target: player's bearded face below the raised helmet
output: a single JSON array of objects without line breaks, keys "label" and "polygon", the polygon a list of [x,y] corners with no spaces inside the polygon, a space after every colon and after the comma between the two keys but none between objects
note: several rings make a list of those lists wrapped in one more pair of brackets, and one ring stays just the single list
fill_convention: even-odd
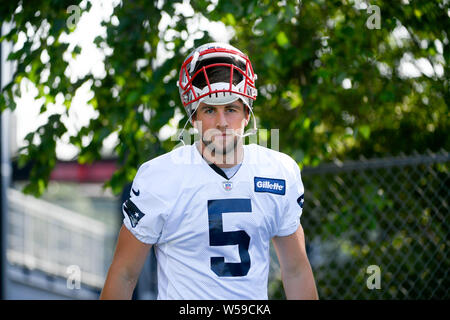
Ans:
[{"label": "player's bearded face below the raised helmet", "polygon": [[194,125],[205,147],[217,156],[235,150],[248,119],[249,114],[240,100],[226,105],[200,103],[194,115]]}]

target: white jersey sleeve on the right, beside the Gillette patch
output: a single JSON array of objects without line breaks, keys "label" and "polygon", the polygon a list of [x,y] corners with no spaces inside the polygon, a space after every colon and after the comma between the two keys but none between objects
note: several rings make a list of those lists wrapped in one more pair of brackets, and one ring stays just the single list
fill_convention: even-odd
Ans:
[{"label": "white jersey sleeve on the right, beside the Gillette patch", "polygon": [[297,230],[303,212],[304,188],[300,168],[294,160],[292,162],[292,169],[289,170],[286,181],[284,210],[281,212],[281,221],[276,234],[280,237],[288,236]]}]

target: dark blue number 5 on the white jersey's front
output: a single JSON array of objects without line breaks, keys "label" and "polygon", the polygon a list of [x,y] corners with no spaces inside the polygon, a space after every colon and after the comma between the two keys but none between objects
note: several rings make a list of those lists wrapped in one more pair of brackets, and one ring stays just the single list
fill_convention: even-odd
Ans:
[{"label": "dark blue number 5 on the white jersey's front", "polygon": [[209,245],[237,244],[241,262],[226,263],[224,257],[211,257],[211,270],[219,277],[242,277],[246,276],[250,269],[250,236],[244,230],[223,231],[222,214],[228,212],[252,212],[250,199],[208,200]]}]

